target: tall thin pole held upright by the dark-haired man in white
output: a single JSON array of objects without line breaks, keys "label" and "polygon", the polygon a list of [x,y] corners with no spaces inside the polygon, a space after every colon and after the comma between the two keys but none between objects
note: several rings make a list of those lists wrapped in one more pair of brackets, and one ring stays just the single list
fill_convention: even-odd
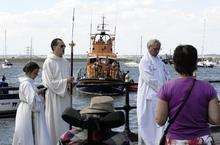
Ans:
[{"label": "tall thin pole held upright by the dark-haired man in white", "polygon": [[[74,30],[74,14],[75,14],[75,8],[73,8],[73,19],[72,19],[72,35],[71,35],[71,58],[70,58],[70,76],[73,77],[73,47],[75,46],[75,43],[73,42],[73,30]],[[73,84],[70,84],[70,107],[72,107],[72,95],[73,95]],[[71,129],[71,126],[70,126]]]}]

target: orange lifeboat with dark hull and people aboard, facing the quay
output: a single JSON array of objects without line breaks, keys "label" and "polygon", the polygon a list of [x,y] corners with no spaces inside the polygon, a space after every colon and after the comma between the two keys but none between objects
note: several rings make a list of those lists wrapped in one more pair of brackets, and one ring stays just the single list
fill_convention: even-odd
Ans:
[{"label": "orange lifeboat with dark hull and people aboard, facing the quay", "polygon": [[79,91],[96,95],[118,95],[123,93],[125,73],[121,71],[116,53],[115,34],[108,34],[105,29],[105,17],[97,28],[97,33],[90,34],[90,51],[87,63],[77,74]]}]

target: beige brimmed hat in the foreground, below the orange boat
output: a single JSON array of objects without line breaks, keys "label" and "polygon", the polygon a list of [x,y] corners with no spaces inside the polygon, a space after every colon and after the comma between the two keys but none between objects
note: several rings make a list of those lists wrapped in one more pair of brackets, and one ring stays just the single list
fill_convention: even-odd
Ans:
[{"label": "beige brimmed hat in the foreground, below the orange boat", "polygon": [[80,114],[96,114],[114,112],[113,98],[110,96],[92,97],[90,105],[80,111]]}]

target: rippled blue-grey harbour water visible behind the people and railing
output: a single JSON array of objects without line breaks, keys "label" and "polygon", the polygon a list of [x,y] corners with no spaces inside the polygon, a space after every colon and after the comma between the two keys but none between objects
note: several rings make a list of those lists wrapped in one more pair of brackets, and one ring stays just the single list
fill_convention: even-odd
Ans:
[{"label": "rippled blue-grey harbour water visible behind the people and railing", "polygon": [[[14,62],[13,67],[10,69],[2,69],[0,68],[0,78],[2,75],[6,76],[6,81],[11,86],[19,86],[18,77],[24,75],[22,72],[22,69],[24,67],[26,62]],[[38,61],[37,62],[41,67],[43,62]],[[77,76],[77,73],[79,69],[82,66],[85,66],[86,62],[74,62],[73,68],[74,68],[74,76]],[[134,62],[120,62],[121,69],[124,72],[129,71],[129,76],[131,79],[133,79],[135,82],[138,81],[139,71],[138,71],[138,65]],[[177,73],[175,72],[172,65],[167,64],[166,65],[171,78],[178,77]],[[220,80],[220,67],[214,67],[214,68],[198,68],[196,72],[196,76],[198,79],[202,80]],[[36,84],[41,84],[41,70],[39,73],[39,76],[36,78]],[[215,89],[218,92],[218,96],[220,96],[220,81],[216,83],[212,83],[212,85],[215,87]],[[73,93],[73,104],[72,107],[75,109],[82,109],[85,106],[89,105],[90,98],[92,95],[86,95],[82,94],[76,89],[74,89]],[[136,106],[136,97],[137,94],[132,92],[129,94],[130,98],[130,105]],[[114,98],[114,106],[115,107],[122,107],[125,104],[125,96],[113,96]],[[136,109],[133,109],[130,111],[129,115],[129,124],[130,129],[132,132],[137,132],[137,118],[136,118]],[[11,145],[13,133],[14,133],[14,126],[15,126],[15,118],[4,118],[0,119],[0,145]],[[124,127],[117,128],[115,130],[123,131]]]}]

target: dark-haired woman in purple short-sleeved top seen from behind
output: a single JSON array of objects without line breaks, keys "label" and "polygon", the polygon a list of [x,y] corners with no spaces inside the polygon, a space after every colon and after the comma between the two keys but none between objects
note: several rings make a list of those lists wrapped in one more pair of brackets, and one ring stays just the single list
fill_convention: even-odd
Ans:
[{"label": "dark-haired woman in purple short-sleeved top seen from behind", "polygon": [[[156,122],[162,126],[173,118],[192,87],[197,69],[197,50],[192,45],[179,45],[173,55],[179,78],[168,81],[158,92]],[[220,105],[210,83],[195,80],[191,94],[171,124],[166,145],[214,145],[209,123],[220,124]]]}]

